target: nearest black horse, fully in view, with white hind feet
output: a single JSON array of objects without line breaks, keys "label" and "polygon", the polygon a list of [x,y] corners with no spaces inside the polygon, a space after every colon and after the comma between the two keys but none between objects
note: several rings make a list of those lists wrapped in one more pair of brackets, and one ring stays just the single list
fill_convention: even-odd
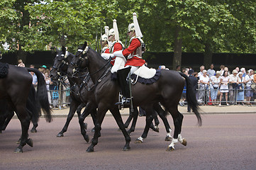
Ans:
[{"label": "nearest black horse, fully in view, with white hind feet", "polygon": [[[111,80],[109,64],[106,64],[106,60],[97,52],[91,50],[91,48],[87,46],[87,42],[85,42],[82,49],[77,52],[74,64],[79,67],[79,69],[87,67],[92,81],[96,84],[94,94],[98,104],[98,113],[96,115],[97,123],[95,125],[94,138],[87,152],[94,151],[94,146],[98,143],[101,123],[108,110],[113,114],[116,123],[125,136],[126,145],[123,147],[123,150],[130,149],[130,137],[125,130],[118,107],[115,105],[118,101],[119,86],[116,81]],[[146,128],[141,136],[142,138],[147,137],[156,103],[162,103],[165,109],[172,115],[174,120],[174,138],[172,139],[172,143],[167,147],[168,151],[174,149],[174,144],[178,141],[183,145],[187,145],[186,140],[181,136],[183,115],[179,113],[177,109],[179,99],[182,96],[185,79],[187,82],[188,104],[194,111],[199,125],[201,125],[201,115],[199,113],[198,103],[196,102],[196,96],[192,92],[191,82],[185,74],[171,70],[162,70],[160,79],[154,84],[137,83],[132,86],[133,107],[141,106],[147,113]]]}]

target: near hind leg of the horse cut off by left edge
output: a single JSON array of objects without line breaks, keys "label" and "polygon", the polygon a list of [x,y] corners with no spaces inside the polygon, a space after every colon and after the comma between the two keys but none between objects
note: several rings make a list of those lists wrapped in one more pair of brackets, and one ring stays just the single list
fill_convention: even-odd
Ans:
[{"label": "near hind leg of the horse cut off by left edge", "polygon": [[17,107],[16,112],[18,119],[21,122],[21,142],[20,145],[15,149],[15,153],[22,153],[23,147],[28,144],[30,147],[33,147],[33,140],[28,138],[28,128],[30,125],[30,116],[26,113],[26,109],[24,109],[22,106]]}]

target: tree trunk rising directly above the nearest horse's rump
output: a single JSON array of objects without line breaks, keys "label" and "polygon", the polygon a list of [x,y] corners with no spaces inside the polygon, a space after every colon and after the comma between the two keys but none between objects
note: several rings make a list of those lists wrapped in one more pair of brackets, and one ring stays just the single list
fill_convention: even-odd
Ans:
[{"label": "tree trunk rising directly above the nearest horse's rump", "polygon": [[176,69],[177,65],[182,65],[182,38],[179,36],[181,30],[182,28],[180,28],[179,26],[177,26],[175,30],[172,69]]}]

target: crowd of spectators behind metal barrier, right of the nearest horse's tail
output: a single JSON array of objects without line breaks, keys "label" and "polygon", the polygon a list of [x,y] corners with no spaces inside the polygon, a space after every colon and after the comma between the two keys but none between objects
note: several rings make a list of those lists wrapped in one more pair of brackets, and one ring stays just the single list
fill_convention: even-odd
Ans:
[{"label": "crowd of spectators behind metal barrier, right of the nearest horse's tail", "polygon": [[[184,68],[182,72],[184,74],[189,72],[189,77],[196,77],[198,80],[196,98],[200,104],[252,106],[255,103],[256,72],[252,69],[246,72],[245,68],[236,67],[230,72],[228,67],[221,65],[220,69],[216,71],[214,64],[211,64],[208,70],[204,66],[201,66],[199,70],[197,73],[191,68]],[[185,90],[186,88],[184,88]],[[181,106],[184,106],[184,100],[184,96],[182,96],[179,103]]]}]

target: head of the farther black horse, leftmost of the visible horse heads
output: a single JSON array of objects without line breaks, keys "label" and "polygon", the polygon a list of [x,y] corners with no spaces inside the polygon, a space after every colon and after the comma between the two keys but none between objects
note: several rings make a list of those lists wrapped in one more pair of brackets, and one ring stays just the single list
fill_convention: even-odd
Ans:
[{"label": "head of the farther black horse, leftmost of the visible horse heads", "polygon": [[69,52],[67,52],[66,48],[62,46],[62,50],[56,49],[56,57],[53,63],[52,70],[50,71],[50,77],[54,84],[57,84],[60,81],[60,78],[63,74],[67,74],[67,66],[69,65]]}]

